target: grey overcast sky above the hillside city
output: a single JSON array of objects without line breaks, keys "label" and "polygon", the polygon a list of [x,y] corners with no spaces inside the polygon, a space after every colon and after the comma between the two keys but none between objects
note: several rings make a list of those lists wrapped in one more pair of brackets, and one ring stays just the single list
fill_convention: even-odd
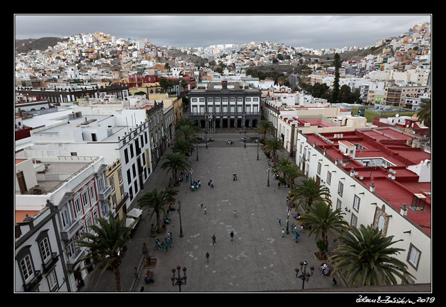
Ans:
[{"label": "grey overcast sky above the hillside city", "polygon": [[104,32],[156,46],[269,41],[294,47],[370,46],[431,15],[15,15],[15,39]]}]

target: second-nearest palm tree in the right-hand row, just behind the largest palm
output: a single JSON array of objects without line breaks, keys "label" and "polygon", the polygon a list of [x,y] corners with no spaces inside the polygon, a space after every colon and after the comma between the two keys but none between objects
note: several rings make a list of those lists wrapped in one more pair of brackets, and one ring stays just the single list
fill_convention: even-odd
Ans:
[{"label": "second-nearest palm tree in the right-hand row, just behind the largest palm", "polygon": [[[330,233],[336,237],[337,234],[342,234],[344,230],[348,229],[348,223],[344,221],[343,215],[344,213],[341,209],[332,211],[331,205],[317,201],[313,207],[310,207],[310,213],[303,214],[299,218],[299,224],[305,223],[306,225],[311,225],[312,231],[308,236],[315,234],[314,241],[321,236],[324,245],[328,246],[327,234]],[[321,254],[321,256],[324,255]]]}]

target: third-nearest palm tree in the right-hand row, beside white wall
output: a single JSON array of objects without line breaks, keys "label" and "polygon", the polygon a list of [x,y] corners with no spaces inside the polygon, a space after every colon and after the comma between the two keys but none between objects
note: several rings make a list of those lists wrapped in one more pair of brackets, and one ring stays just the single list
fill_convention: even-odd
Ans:
[{"label": "third-nearest palm tree in the right-hand row, beside white wall", "polygon": [[[307,212],[308,208],[312,207],[315,201],[323,201],[330,205],[332,203],[330,200],[330,189],[319,185],[316,179],[312,177],[304,179],[301,185],[298,185],[296,189],[290,191],[290,194],[292,195],[291,200],[298,200],[298,204],[303,205],[305,212]],[[296,211],[297,209],[298,206],[296,206]]]}]

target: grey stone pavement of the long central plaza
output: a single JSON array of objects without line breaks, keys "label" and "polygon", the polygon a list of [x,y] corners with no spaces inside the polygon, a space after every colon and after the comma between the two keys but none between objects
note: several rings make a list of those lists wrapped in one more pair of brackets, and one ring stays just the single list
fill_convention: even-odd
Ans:
[{"label": "grey stone pavement of the long central plaza", "polygon": [[[217,135],[213,135],[215,138]],[[243,147],[239,134],[234,134],[234,145],[224,145],[216,139],[199,145],[199,160],[195,153],[189,157],[193,168],[193,180],[201,180],[202,186],[191,192],[184,180],[177,189],[177,200],[181,206],[181,224],[184,236],[179,237],[179,214],[170,212],[171,222],[168,232],[172,232],[172,249],[168,252],[155,249],[158,238],[163,241],[167,234],[150,237],[150,214],[143,212],[143,217],[136,227],[132,241],[127,243],[127,252],[123,254],[121,264],[121,283],[124,292],[178,292],[178,286],[172,286],[172,268],[186,267],[187,284],[181,286],[181,292],[266,292],[300,290],[302,280],[296,278],[294,268],[300,268],[301,261],[308,261],[307,271],[314,266],[314,275],[305,282],[305,289],[332,288],[332,277],[321,276],[319,266],[322,261],[314,257],[317,251],[314,236],[307,236],[309,230],[303,230],[298,243],[294,234],[282,236],[286,230],[287,210],[285,198],[289,190],[278,189],[277,180],[269,178],[267,187],[267,158],[260,150],[257,158],[257,145]],[[249,136],[247,136],[249,137]],[[166,154],[170,154],[167,151]],[[144,192],[154,187],[163,189],[167,186],[169,175],[161,169],[163,159],[154,174],[145,184]],[[238,180],[233,180],[236,173]],[[270,173],[271,174],[271,173]],[[208,188],[212,179],[214,188]],[[303,178],[298,178],[296,184]],[[200,205],[207,208],[206,214]],[[237,217],[233,216],[237,210]],[[289,225],[296,225],[289,216]],[[281,219],[282,225],[278,224]],[[234,232],[233,241],[230,232]],[[211,237],[215,234],[216,243]],[[143,275],[142,251],[146,242],[149,254],[157,259],[153,268],[154,283],[145,283]],[[206,263],[206,252],[209,262]],[[138,278],[136,277],[138,272]],[[182,272],[181,272],[182,275]],[[115,284],[111,270],[107,270],[95,287],[93,278],[82,292],[114,292]],[[338,286],[339,284],[338,280]]]}]

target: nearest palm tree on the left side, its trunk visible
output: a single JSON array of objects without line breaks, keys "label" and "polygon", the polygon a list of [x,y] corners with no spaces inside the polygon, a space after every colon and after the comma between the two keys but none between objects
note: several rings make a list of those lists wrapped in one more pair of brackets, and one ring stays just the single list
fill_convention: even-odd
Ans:
[{"label": "nearest palm tree on the left side, its trunk visible", "polygon": [[84,266],[82,270],[91,268],[96,264],[98,266],[95,270],[104,266],[101,274],[107,268],[113,269],[116,292],[121,292],[121,272],[119,270],[121,250],[130,241],[130,232],[133,225],[130,225],[130,227],[125,225],[125,216],[123,219],[119,219],[118,216],[116,218],[109,216],[108,219],[98,218],[98,223],[99,225],[89,225],[91,232],[81,232],[80,239],[75,241],[77,248],[89,248],[90,250],[89,254],[80,257],[78,261],[75,261],[75,264],[88,260],[89,264]]}]

